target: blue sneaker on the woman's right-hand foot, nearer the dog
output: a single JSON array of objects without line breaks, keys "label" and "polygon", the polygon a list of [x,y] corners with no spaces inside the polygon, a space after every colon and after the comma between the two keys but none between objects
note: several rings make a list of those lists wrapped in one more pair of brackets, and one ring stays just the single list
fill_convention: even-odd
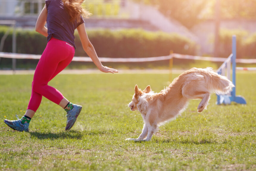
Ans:
[{"label": "blue sneaker on the woman's right-hand foot, nearer the dog", "polygon": [[67,112],[67,115],[66,115],[67,116],[67,126],[65,128],[66,131],[70,130],[70,128],[73,127],[81,110],[82,110],[82,106],[73,104],[73,109]]}]

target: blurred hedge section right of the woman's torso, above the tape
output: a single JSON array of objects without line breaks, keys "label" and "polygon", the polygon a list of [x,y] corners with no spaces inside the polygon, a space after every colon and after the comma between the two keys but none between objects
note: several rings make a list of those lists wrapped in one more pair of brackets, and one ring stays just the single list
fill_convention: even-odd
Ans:
[{"label": "blurred hedge section right of the woman's torso, above the tape", "polygon": [[[98,56],[111,58],[143,58],[175,53],[195,54],[196,45],[177,34],[147,32],[138,29],[119,31],[89,30],[88,37]],[[84,54],[76,34],[76,55]]]}]

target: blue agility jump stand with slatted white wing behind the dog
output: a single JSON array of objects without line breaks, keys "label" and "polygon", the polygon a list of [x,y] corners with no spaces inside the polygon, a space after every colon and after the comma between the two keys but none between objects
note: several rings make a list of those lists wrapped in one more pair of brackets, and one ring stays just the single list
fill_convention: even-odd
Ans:
[{"label": "blue agility jump stand with slatted white wing behind the dog", "polygon": [[[232,83],[236,86],[236,36],[232,36],[232,54],[227,58],[227,60],[219,67],[217,73],[223,75],[225,69],[227,70],[227,77],[230,79],[230,63],[232,63]],[[217,95],[217,102],[216,104],[231,104],[231,101],[234,101],[239,104],[246,104],[246,100],[241,95],[235,94],[236,87],[233,87],[230,95]]]}]

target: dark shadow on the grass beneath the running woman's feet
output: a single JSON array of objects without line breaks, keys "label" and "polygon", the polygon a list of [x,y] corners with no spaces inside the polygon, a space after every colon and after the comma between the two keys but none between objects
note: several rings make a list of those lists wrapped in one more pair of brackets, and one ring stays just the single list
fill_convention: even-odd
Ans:
[{"label": "dark shadow on the grass beneath the running woman's feet", "polygon": [[41,133],[41,132],[29,132],[31,136],[37,137],[39,139],[81,139],[82,138],[82,132],[71,130],[71,131],[63,131],[59,133]]}]

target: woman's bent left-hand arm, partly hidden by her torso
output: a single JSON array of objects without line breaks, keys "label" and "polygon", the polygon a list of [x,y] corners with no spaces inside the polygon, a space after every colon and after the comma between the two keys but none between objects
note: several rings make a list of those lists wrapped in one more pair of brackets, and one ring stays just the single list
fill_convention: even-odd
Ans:
[{"label": "woman's bent left-hand arm, partly hidden by her torso", "polygon": [[48,36],[47,28],[45,27],[46,19],[47,19],[47,8],[46,8],[46,5],[44,5],[43,10],[41,11],[36,21],[35,31],[42,34],[45,37]]}]

